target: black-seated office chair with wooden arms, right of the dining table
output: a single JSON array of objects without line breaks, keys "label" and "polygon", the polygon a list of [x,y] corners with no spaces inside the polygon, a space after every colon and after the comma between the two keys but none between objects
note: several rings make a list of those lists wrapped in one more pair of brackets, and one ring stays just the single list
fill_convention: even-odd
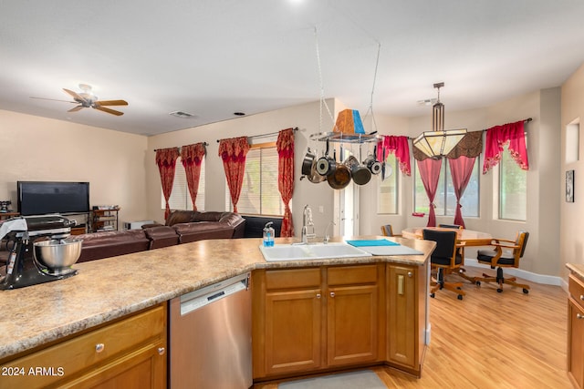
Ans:
[{"label": "black-seated office chair with wooden arms, right of the dining table", "polygon": [[[524,293],[529,292],[529,285],[525,283],[517,283],[516,277],[505,278],[503,275],[503,268],[518,268],[519,260],[526,252],[527,238],[529,232],[518,231],[515,241],[507,241],[505,239],[494,239],[491,246],[494,250],[479,250],[476,259],[479,262],[491,266],[491,269],[496,268],[496,276],[490,276],[483,273],[483,277],[474,277],[476,285],[480,286],[481,282],[497,282],[499,287],[496,292],[503,292],[503,284],[507,283],[512,286],[523,288]],[[503,252],[503,250],[510,250],[510,252]]]}]

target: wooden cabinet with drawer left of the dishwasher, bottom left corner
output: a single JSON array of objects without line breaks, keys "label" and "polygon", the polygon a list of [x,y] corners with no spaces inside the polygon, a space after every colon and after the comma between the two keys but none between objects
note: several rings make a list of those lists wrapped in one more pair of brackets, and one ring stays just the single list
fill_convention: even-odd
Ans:
[{"label": "wooden cabinet with drawer left of the dishwasher, bottom left corner", "polygon": [[164,303],[3,362],[0,388],[164,388],[166,347]]}]

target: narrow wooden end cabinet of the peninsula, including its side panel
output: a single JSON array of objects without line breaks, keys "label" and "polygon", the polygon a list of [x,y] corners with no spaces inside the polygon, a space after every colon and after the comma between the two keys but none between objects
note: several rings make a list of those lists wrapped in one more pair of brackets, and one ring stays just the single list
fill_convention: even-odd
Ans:
[{"label": "narrow wooden end cabinet of the peninsula, including its side panel", "polygon": [[426,271],[425,266],[387,265],[387,361],[418,376],[425,343]]}]

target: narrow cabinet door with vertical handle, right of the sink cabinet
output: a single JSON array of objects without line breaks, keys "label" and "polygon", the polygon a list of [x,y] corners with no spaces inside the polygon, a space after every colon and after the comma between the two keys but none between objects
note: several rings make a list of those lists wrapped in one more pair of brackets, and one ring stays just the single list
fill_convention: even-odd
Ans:
[{"label": "narrow cabinet door with vertical handle, right of the sink cabinet", "polygon": [[416,269],[388,265],[388,361],[416,367]]}]

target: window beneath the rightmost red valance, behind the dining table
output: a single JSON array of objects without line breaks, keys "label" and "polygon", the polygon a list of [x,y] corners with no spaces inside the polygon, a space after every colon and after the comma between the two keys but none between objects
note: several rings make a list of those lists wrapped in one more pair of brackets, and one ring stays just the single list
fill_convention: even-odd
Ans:
[{"label": "window beneath the rightmost red valance, behind the dining table", "polygon": [[527,220],[527,171],[506,150],[499,162],[499,219]]}]

